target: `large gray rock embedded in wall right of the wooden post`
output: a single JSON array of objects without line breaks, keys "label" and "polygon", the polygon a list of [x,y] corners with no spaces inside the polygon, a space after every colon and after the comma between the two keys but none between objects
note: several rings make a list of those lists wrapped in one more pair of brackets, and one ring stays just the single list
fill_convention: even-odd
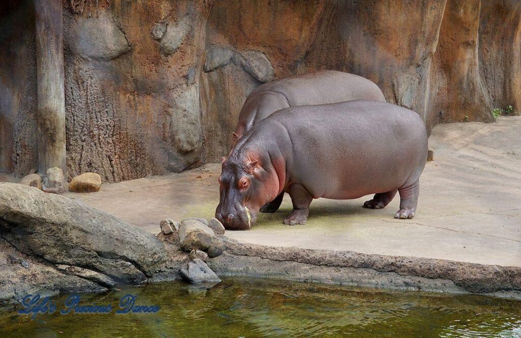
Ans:
[{"label": "large gray rock embedded in wall right of the wooden post", "polygon": [[75,16],[71,23],[64,30],[65,40],[83,56],[110,60],[130,51],[125,33],[110,11],[101,10],[92,17]]}]

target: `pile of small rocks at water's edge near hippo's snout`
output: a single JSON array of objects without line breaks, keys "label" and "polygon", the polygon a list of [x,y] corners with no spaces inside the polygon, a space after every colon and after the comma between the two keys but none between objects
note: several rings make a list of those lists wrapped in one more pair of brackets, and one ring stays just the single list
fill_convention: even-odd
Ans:
[{"label": "pile of small rocks at water's edge near hippo's snout", "polygon": [[221,281],[206,265],[208,258],[220,256],[226,250],[223,240],[225,227],[219,220],[189,218],[182,220],[181,223],[164,220],[159,223],[159,226],[166,240],[169,242],[178,240],[181,250],[190,252],[190,261],[180,270],[185,280],[190,283]]}]

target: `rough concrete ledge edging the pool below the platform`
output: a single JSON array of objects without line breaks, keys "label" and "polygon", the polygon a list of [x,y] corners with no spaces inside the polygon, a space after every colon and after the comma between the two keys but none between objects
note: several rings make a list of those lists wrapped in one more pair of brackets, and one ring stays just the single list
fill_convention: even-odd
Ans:
[{"label": "rough concrete ledge edging the pool below the platform", "polygon": [[521,299],[521,268],[353,251],[266,247],[229,240],[208,265],[221,276],[267,277]]}]

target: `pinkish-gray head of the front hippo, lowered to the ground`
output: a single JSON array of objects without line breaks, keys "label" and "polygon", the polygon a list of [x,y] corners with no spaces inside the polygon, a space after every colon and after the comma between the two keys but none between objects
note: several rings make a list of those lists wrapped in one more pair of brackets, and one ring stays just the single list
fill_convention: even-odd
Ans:
[{"label": "pinkish-gray head of the front hippo, lowered to the ground", "polygon": [[279,179],[269,156],[231,151],[222,158],[220,200],[215,217],[227,230],[248,230],[261,207],[279,194]]}]

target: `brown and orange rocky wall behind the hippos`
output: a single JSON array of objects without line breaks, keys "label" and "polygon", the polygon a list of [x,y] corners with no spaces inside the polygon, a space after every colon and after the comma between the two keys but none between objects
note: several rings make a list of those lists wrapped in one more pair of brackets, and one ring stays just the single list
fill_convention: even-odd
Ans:
[{"label": "brown and orange rocky wall behind the hippos", "polygon": [[[0,8],[0,171],[17,175],[36,161],[31,8]],[[515,0],[75,0],[63,19],[69,177],[215,162],[254,88],[316,69],[373,80],[429,130],[521,108]]]}]

